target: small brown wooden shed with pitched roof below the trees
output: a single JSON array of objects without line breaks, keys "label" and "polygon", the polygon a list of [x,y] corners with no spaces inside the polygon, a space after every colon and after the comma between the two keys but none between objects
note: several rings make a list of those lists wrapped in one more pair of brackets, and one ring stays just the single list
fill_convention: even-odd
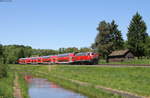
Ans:
[{"label": "small brown wooden shed with pitched roof below the trees", "polygon": [[113,51],[108,56],[108,62],[122,62],[122,61],[127,61],[133,58],[134,58],[134,55],[129,49],[118,50],[118,51]]}]

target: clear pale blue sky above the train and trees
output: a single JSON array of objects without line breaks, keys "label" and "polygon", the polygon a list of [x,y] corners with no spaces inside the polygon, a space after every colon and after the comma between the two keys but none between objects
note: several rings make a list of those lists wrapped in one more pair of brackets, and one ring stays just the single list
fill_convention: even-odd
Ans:
[{"label": "clear pale blue sky above the train and trees", "polygon": [[124,39],[138,11],[150,32],[149,0],[12,0],[0,2],[0,42],[40,49],[88,47],[100,21],[119,25]]}]

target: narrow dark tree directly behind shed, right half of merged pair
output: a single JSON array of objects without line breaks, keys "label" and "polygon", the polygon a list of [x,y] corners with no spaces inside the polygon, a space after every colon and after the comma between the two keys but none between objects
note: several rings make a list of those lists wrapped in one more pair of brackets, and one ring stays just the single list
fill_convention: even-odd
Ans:
[{"label": "narrow dark tree directly behind shed, right half of merged pair", "polygon": [[118,25],[115,24],[115,21],[113,20],[110,24],[110,33],[111,33],[111,40],[113,42],[113,50],[120,50],[124,47],[124,41],[122,38],[121,31],[118,30]]}]

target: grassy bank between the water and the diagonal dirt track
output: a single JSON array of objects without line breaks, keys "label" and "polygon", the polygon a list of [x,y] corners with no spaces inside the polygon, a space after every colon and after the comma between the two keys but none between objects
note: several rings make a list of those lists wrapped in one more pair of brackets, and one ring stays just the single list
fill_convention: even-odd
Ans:
[{"label": "grassy bank between the water and the diagonal dirt track", "polygon": [[[33,75],[35,77],[46,78],[50,81],[53,81],[59,84],[63,88],[82,93],[88,96],[89,98],[121,98],[121,96],[119,95],[112,94],[106,91],[102,91],[100,89],[93,88],[92,86],[81,86],[79,84],[72,83],[67,80],[53,77],[51,72],[49,72],[48,67],[49,66],[11,65],[11,68],[20,70],[24,75],[26,74],[26,75]],[[48,73],[48,75],[41,74],[41,72]]]}]

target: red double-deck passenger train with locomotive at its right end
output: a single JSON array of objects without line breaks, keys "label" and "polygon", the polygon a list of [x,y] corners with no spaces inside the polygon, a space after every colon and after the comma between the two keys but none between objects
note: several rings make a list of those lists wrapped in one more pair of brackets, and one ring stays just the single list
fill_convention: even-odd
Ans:
[{"label": "red double-deck passenger train with locomotive at its right end", "polygon": [[20,58],[19,64],[98,64],[100,54],[95,52],[64,53],[58,55]]}]

